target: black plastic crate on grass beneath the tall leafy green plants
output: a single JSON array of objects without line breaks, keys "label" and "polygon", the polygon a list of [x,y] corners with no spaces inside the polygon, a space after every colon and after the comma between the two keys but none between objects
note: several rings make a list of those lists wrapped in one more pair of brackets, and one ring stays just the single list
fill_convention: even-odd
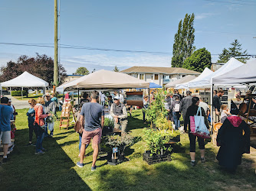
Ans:
[{"label": "black plastic crate on grass beneath the tall leafy green plants", "polygon": [[143,160],[146,161],[148,164],[160,163],[165,161],[171,161],[172,156],[171,154],[150,154],[149,151],[143,153]]}]

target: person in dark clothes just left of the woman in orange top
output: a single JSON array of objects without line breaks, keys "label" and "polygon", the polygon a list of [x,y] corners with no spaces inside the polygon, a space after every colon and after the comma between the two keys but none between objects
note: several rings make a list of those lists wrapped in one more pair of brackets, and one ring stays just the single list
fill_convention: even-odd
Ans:
[{"label": "person in dark clothes just left of the woman in orange top", "polygon": [[32,146],[32,137],[33,137],[33,131],[35,133],[34,129],[34,105],[36,105],[36,101],[34,99],[29,99],[28,104],[30,105],[30,108],[28,109],[27,116],[28,116],[28,128],[29,128],[29,140],[28,144],[26,146]]}]

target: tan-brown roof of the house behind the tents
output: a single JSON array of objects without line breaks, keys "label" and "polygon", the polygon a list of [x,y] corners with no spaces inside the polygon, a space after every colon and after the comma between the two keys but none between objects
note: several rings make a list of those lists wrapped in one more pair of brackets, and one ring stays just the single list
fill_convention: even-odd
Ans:
[{"label": "tan-brown roof of the house behind the tents", "polygon": [[198,72],[185,68],[176,67],[151,67],[151,66],[133,66],[121,73],[163,73],[163,74],[200,74]]}]

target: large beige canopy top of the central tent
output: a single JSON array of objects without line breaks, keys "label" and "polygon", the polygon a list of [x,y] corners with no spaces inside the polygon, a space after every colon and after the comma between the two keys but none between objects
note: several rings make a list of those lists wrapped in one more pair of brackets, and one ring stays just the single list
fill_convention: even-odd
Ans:
[{"label": "large beige canopy top of the central tent", "polygon": [[82,76],[71,83],[67,83],[64,87],[60,86],[57,88],[57,91],[61,92],[67,87],[84,89],[149,88],[149,83],[125,73],[99,70],[87,76]]}]

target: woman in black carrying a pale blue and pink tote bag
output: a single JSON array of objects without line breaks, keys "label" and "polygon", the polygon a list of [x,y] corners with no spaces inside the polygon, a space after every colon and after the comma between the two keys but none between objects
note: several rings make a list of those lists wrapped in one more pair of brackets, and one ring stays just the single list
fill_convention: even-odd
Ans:
[{"label": "woman in black carrying a pale blue and pink tote bag", "polygon": [[[190,116],[194,116],[197,113],[197,110],[199,108],[199,98],[193,97],[192,98],[192,105],[189,106],[185,113],[185,120],[184,120],[184,128],[187,128],[189,125],[189,141],[190,141],[190,157],[191,157],[191,165],[192,167],[195,167],[195,139],[197,137],[197,140],[199,141],[199,149],[201,154],[201,162],[205,163],[205,142],[203,138],[200,138],[198,136],[195,136],[194,134],[190,133]],[[210,128],[208,125],[207,118],[205,116],[204,108],[201,108],[202,116],[205,118],[205,125],[207,128]]]}]

